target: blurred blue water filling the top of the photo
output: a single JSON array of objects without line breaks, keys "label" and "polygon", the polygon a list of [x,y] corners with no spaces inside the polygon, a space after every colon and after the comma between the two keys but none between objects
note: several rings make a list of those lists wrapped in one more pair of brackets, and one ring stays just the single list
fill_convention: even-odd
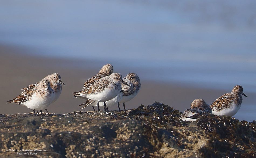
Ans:
[{"label": "blurred blue water filling the top of the photo", "polygon": [[[0,43],[256,92],[256,1],[1,1]],[[82,63],[81,67],[83,66]],[[77,65],[73,65],[77,66]]]}]

